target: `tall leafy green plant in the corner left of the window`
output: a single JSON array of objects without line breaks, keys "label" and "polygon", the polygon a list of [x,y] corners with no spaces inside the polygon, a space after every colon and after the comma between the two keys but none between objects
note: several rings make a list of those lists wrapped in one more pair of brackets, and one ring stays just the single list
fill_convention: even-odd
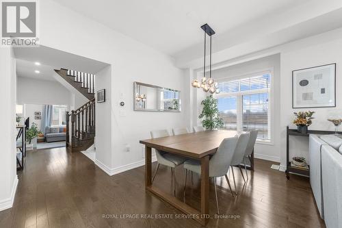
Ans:
[{"label": "tall leafy green plant in the corner left of the window", "polygon": [[203,110],[198,118],[205,118],[202,121],[202,126],[209,130],[223,127],[222,118],[218,116],[218,100],[213,98],[213,95],[210,95],[201,104]]}]

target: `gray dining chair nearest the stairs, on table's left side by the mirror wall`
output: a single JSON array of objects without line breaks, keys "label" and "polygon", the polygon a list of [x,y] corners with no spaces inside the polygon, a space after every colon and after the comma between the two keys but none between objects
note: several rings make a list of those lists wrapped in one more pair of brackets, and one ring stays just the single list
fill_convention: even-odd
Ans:
[{"label": "gray dining chair nearest the stairs, on table's left side by the mirror wall", "polygon": [[[170,136],[170,134],[168,133],[168,130],[156,130],[150,131],[150,136],[151,138],[161,138]],[[155,174],[153,175],[152,183],[155,180],[155,176],[157,175],[159,165],[162,164],[164,166],[168,166],[171,168],[171,181],[173,181],[174,183],[173,190],[174,195],[176,195],[176,176],[174,175],[174,168],[176,168],[176,166],[183,164],[186,159],[179,155],[167,153],[165,151],[159,151],[158,149],[155,149],[155,155],[157,156],[157,168],[155,169]]]}]

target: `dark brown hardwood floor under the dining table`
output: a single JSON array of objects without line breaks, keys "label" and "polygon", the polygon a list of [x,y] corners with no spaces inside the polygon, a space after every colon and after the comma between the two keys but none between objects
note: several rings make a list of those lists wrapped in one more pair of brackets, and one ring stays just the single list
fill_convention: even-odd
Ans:
[{"label": "dark brown hardwood floor under the dining table", "polygon": [[[235,198],[225,179],[217,179],[220,214],[239,218],[211,218],[207,227],[325,227],[308,179],[291,175],[287,181],[285,173],[269,168],[271,164],[255,160],[255,172],[248,171],[246,185],[235,169],[239,190]],[[14,206],[0,212],[0,227],[201,227],[190,218],[175,218],[185,215],[145,192],[144,166],[109,177],[82,153],[55,148],[28,152],[18,177]],[[176,168],[176,179],[177,197],[183,199],[183,168]],[[194,176],[193,185],[187,180],[185,201],[200,208],[198,177]],[[231,175],[230,180],[233,187]],[[154,184],[171,194],[170,169],[161,166]],[[211,182],[214,217],[213,190]],[[139,218],[122,218],[127,214]],[[142,214],[173,218],[142,219]]]}]

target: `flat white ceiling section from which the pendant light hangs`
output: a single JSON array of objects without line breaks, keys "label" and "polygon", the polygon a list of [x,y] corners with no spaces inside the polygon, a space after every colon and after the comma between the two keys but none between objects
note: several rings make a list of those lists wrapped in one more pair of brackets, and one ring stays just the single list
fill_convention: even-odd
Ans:
[{"label": "flat white ceiling section from which the pendant light hangs", "polygon": [[283,14],[313,0],[55,1],[174,56],[202,42],[200,25],[208,23],[218,34],[234,34],[242,25]]}]

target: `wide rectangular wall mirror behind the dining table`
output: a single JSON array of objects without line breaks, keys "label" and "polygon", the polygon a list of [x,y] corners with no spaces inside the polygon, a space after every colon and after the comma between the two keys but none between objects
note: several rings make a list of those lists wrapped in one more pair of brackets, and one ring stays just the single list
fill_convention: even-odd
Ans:
[{"label": "wide rectangular wall mirror behind the dining table", "polygon": [[134,110],[181,112],[181,91],[134,82]]}]

